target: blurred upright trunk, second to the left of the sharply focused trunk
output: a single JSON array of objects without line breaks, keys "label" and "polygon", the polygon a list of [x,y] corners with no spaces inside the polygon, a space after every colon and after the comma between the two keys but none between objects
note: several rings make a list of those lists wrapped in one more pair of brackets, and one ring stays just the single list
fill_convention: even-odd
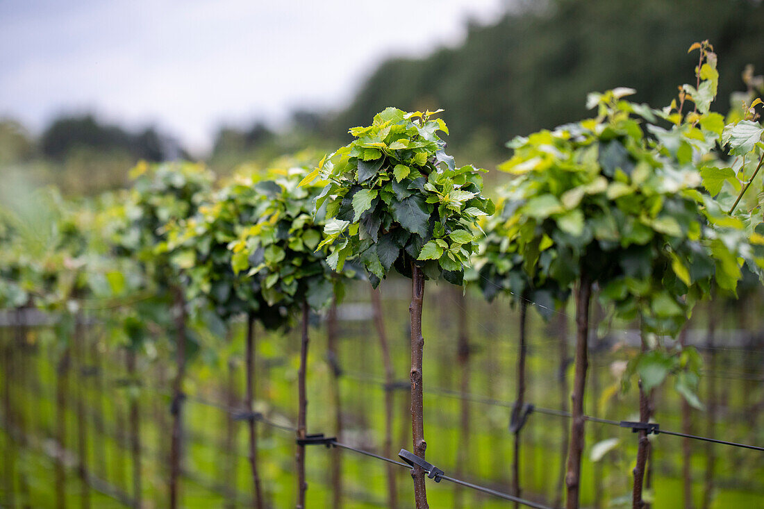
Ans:
[{"label": "blurred upright trunk, second to the left of the sharply focused trunk", "polygon": [[[339,379],[342,370],[339,366],[337,352],[337,300],[332,299],[332,306],[326,315],[326,357],[329,368],[332,371],[332,383],[330,387],[332,407],[334,408],[334,434],[342,442],[342,397],[339,391]],[[332,507],[342,508],[342,454],[341,449],[333,447],[329,452],[332,459],[330,477],[332,480]]]}]

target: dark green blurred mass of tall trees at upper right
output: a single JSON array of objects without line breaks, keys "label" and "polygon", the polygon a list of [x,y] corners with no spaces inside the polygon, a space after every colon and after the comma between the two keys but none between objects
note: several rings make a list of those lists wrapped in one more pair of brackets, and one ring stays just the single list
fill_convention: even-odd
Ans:
[{"label": "dark green blurred mass of tall trees at upper right", "polygon": [[[724,55],[720,66],[727,112],[747,64],[764,69],[764,5],[746,0],[551,0],[521,2],[497,24],[473,25],[463,45],[420,60],[388,60],[367,79],[337,118],[334,131],[361,125],[389,104],[440,107],[464,151],[572,122],[586,115],[593,89],[628,85],[638,102],[669,104],[685,69],[697,58],[677,51],[708,39]],[[480,90],[480,93],[475,93]],[[481,145],[483,146],[483,145]],[[484,157],[484,155],[481,155]]]}]

